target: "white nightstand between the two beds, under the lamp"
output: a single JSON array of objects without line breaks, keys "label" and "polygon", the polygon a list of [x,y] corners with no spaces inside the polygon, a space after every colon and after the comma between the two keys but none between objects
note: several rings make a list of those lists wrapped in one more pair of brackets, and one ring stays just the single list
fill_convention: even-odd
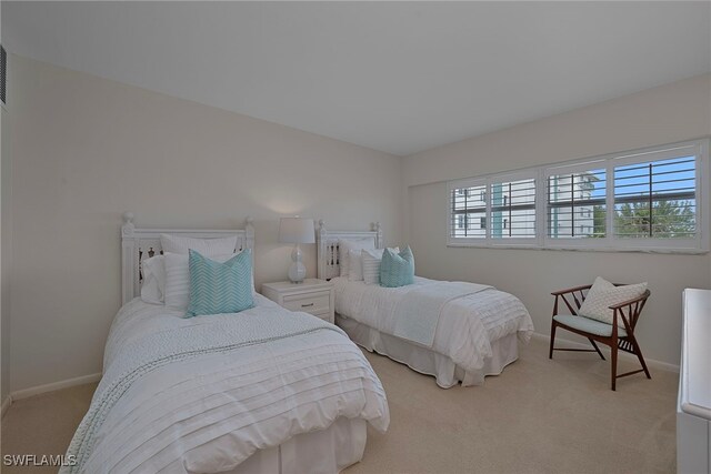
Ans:
[{"label": "white nightstand between the two beds, under the lamp", "polygon": [[329,323],[334,322],[333,283],[306,279],[303,283],[276,282],[262,284],[262,294],[291,311],[311,313]]}]

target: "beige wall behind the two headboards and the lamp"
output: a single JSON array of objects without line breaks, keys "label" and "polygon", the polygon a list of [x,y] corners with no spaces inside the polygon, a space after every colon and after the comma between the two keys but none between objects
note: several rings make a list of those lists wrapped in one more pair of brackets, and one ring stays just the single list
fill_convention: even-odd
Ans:
[{"label": "beige wall behind the two headboards and the lamp", "polygon": [[[256,223],[256,282],[284,280],[282,215],[383,224],[400,241],[401,159],[12,57],[12,391],[101,371],[120,304],[121,214],[138,226]],[[303,245],[316,275],[316,245]]]}]

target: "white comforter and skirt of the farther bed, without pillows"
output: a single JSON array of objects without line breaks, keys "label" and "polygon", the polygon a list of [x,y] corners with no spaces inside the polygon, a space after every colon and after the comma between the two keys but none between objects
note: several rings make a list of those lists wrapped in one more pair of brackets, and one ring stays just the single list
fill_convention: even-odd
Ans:
[{"label": "white comforter and skirt of the farther bed, without pillows", "polygon": [[523,303],[492,286],[419,276],[400,288],[331,281],[337,323],[351,340],[434,375],[442,387],[501,373],[518,359],[517,336],[528,342],[533,332]]}]

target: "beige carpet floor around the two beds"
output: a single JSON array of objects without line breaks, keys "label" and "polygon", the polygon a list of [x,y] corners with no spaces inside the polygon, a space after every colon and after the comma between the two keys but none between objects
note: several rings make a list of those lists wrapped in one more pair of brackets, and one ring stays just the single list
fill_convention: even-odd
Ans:
[{"label": "beige carpet floor around the two beds", "polygon": [[[442,390],[368,354],[391,423],[385,434],[369,428],[364,458],[347,473],[673,473],[678,375],[653,370],[651,381],[621,379],[612,392],[609,365],[595,357],[559,352],[549,361],[547,344],[534,340],[483,386]],[[2,420],[2,453],[63,453],[94,389],[13,403]]]}]

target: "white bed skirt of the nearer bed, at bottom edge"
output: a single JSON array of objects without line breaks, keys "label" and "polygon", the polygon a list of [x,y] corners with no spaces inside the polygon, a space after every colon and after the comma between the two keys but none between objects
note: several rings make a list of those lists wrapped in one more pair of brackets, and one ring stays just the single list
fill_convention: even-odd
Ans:
[{"label": "white bed skirt of the nearer bed, at bottom edge", "polygon": [[362,460],[365,425],[364,420],[340,417],[327,430],[258,451],[228,474],[338,473]]}]

